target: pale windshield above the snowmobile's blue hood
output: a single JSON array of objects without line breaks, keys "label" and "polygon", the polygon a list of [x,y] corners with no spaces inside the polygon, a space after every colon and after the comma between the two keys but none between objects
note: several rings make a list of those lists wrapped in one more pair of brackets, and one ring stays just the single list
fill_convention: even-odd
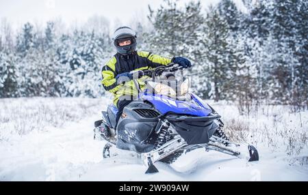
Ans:
[{"label": "pale windshield above the snowmobile's blue hood", "polygon": [[168,97],[183,97],[190,89],[190,79],[155,79],[146,80],[147,93],[165,95]]}]

